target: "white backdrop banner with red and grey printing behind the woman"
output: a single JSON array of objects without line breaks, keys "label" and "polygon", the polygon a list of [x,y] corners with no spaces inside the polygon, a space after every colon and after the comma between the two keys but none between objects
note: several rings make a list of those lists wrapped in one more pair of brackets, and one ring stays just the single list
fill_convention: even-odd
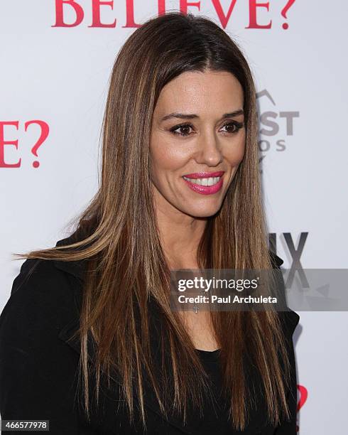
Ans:
[{"label": "white backdrop banner with red and grey printing behind the woman", "polygon": [[[0,308],[21,260],[54,246],[98,186],[109,75],[148,18],[190,11],[221,26],[256,80],[263,200],[283,267],[346,269],[347,1],[0,2]],[[298,431],[340,434],[346,311],[298,311]]]}]

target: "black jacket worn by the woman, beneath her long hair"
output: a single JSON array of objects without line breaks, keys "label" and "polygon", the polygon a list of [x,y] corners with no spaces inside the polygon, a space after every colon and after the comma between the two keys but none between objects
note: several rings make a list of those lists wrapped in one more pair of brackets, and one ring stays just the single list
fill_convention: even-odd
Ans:
[{"label": "black jacket worn by the woman, beneath her long hair", "polygon": [[[69,243],[71,236],[57,245]],[[274,267],[283,261],[271,254]],[[45,419],[53,435],[143,434],[141,426],[129,425],[119,402],[119,384],[113,378],[110,388],[102,388],[102,407],[87,424],[77,400],[79,340],[68,338],[79,326],[82,301],[83,262],[27,259],[13,281],[11,296],[0,316],[0,414],[1,419]],[[283,312],[288,338],[292,380],[287,392],[292,419],[278,429],[263,423],[264,409],[259,407],[243,434],[295,435],[297,388],[292,335],[299,316]],[[91,353],[91,358],[93,354]],[[261,393],[260,393],[261,394]],[[189,426],[170,417],[163,420],[151,392],[145,390],[148,434],[200,435],[199,419]],[[261,397],[261,395],[260,395]],[[256,403],[259,397],[256,397]],[[196,424],[197,421],[197,424]],[[36,432],[35,432],[36,433]],[[234,431],[231,434],[241,432]]]}]

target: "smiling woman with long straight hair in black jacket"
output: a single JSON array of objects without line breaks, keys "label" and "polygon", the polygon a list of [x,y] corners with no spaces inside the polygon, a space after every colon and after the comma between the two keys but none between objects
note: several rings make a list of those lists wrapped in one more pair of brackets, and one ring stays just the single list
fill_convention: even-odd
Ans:
[{"label": "smiling woman with long straight hair in black jacket", "polygon": [[2,419],[53,434],[295,434],[299,316],[169,304],[171,269],[283,263],[267,247],[255,94],[207,18],[173,12],[129,37],[99,191],[70,237],[21,255],[1,314]]}]

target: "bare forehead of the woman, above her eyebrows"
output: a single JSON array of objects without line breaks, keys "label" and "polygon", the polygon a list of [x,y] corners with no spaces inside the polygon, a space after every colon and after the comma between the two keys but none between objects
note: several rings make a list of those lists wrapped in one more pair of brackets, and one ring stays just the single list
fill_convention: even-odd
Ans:
[{"label": "bare forehead of the woman, above her eyebrows", "polygon": [[155,113],[190,112],[219,114],[243,107],[239,81],[225,71],[189,71],[178,75],[163,89]]}]

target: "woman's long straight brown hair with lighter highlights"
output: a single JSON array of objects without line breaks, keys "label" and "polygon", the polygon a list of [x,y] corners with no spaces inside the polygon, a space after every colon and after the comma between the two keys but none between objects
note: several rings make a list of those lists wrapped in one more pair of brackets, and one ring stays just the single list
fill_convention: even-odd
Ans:
[{"label": "woman's long straight brown hair with lighter highlights", "polygon": [[[158,235],[149,176],[151,122],[162,88],[185,71],[207,69],[232,73],[243,88],[246,148],[222,208],[207,219],[197,264],[202,269],[272,268],[261,203],[256,90],[246,58],[232,38],[208,18],[178,12],[151,18],[131,34],[116,57],[102,126],[101,182],[76,220],[75,242],[15,254],[67,262],[87,260],[79,331],[87,418],[90,333],[97,343],[97,397],[101,370],[108,375],[116,370],[131,419],[136,392],[146,424],[143,369],[163,414],[178,412],[184,421],[187,405],[200,407],[202,391],[209,387],[190,336],[178,313],[170,310],[170,269]],[[161,376],[154,369],[150,296],[161,313],[161,349],[164,353],[168,346],[170,375],[165,365]],[[211,313],[211,317],[234,427],[244,429],[248,417],[246,352],[261,375],[268,419],[278,424],[281,414],[289,415],[289,367],[277,313],[224,311]],[[286,363],[285,372],[281,360]]]}]

